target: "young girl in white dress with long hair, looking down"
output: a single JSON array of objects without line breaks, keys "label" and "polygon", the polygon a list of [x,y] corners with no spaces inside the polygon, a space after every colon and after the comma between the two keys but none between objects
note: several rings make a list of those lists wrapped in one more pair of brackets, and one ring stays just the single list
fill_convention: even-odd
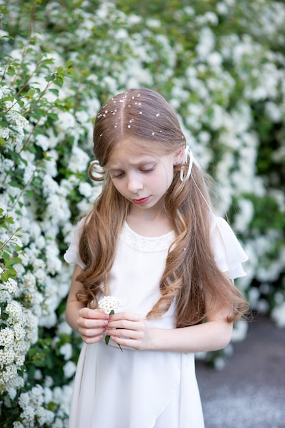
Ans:
[{"label": "young girl in white dress with long hair, looking down", "polygon": [[[157,92],[103,105],[94,156],[103,190],[65,255],[75,264],[66,320],[84,342],[69,426],[202,428],[194,353],[229,343],[247,310],[230,278],[247,256]],[[107,295],[120,299],[114,315],[98,306]]]}]

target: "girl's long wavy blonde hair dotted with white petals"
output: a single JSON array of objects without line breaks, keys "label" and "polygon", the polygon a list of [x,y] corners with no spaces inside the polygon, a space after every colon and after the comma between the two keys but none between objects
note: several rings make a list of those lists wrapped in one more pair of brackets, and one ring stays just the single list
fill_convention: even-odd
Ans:
[{"label": "girl's long wavy blonde hair dotted with white petals", "polygon": [[[169,155],[185,146],[185,136],[174,111],[162,96],[146,88],[114,96],[98,112],[93,151],[103,171],[113,148],[130,137],[141,142],[145,152],[157,156]],[[175,239],[161,278],[161,297],[147,318],[161,317],[176,302],[176,327],[201,323],[213,310],[223,306],[232,308],[232,316],[228,317],[232,322],[245,314],[247,302],[215,263],[208,194],[211,180],[193,164],[191,177],[182,182],[180,171],[185,169],[184,164],[174,166],[174,179],[165,194],[165,212]],[[100,177],[90,170],[90,178],[104,181],[103,190],[86,217],[79,243],[85,268],[77,277],[83,284],[77,299],[96,307],[98,291],[102,284],[107,287],[130,202],[114,187],[109,173]]]}]

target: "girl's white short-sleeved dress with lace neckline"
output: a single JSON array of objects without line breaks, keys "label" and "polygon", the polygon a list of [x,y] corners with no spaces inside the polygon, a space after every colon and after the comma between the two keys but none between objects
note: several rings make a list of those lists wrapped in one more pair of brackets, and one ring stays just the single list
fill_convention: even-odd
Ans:
[{"label": "girl's white short-sleeved dress with lace neckline", "polygon": [[[65,254],[83,267],[77,248],[80,226]],[[247,256],[230,226],[213,222],[215,258],[233,278],[245,275]],[[222,238],[221,238],[222,235]],[[142,237],[128,224],[120,233],[111,269],[111,295],[122,310],[146,315],[159,299],[159,280],[174,233]],[[229,267],[230,266],[230,267]],[[99,297],[100,298],[100,297]],[[173,328],[174,305],[149,327]],[[204,428],[193,353],[135,351],[110,340],[83,344],[74,380],[69,428]]]}]

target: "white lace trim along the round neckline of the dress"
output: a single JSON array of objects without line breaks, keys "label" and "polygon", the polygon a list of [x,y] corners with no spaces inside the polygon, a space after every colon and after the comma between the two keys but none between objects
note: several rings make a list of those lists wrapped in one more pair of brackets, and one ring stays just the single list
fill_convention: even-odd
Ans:
[{"label": "white lace trim along the round neckline of the dress", "polygon": [[168,250],[169,245],[174,241],[174,232],[169,232],[161,237],[143,237],[125,223],[120,232],[120,239],[128,247],[139,252],[161,252]]}]

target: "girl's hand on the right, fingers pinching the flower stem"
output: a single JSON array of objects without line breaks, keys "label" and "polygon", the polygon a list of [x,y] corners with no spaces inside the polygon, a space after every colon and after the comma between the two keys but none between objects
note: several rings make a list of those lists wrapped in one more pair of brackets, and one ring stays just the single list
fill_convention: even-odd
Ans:
[{"label": "girl's hand on the right, fingers pinching the flower stem", "polygon": [[105,334],[118,345],[144,351],[148,349],[150,332],[144,318],[132,312],[110,315]]}]

